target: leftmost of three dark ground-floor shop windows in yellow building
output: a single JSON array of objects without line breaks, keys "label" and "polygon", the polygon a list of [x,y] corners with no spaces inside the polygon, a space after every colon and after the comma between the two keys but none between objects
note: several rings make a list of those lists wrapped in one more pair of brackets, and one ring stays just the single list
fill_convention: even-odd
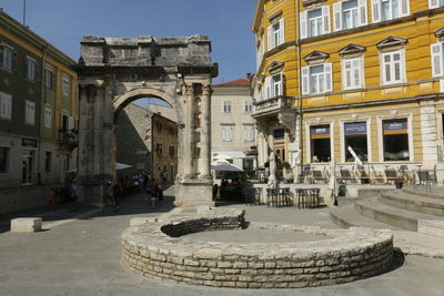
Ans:
[{"label": "leftmost of three dark ground-floor shop windows in yellow building", "polygon": [[312,162],[330,162],[331,143],[330,125],[315,125],[310,127]]}]

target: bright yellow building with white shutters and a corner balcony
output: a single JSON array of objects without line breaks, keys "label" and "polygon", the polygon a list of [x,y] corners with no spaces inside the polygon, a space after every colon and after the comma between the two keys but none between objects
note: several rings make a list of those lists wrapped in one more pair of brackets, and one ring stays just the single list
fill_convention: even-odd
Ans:
[{"label": "bright yellow building with white shutters and a corner balcony", "polygon": [[253,32],[260,164],[440,167],[444,1],[259,0]]}]

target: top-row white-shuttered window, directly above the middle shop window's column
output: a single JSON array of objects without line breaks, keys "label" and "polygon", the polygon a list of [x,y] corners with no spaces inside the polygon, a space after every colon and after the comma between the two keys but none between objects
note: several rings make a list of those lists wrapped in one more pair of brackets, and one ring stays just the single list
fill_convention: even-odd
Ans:
[{"label": "top-row white-shuttered window, directly above the middle shop window's column", "polygon": [[335,31],[367,24],[367,1],[350,0],[333,3],[333,24]]}]

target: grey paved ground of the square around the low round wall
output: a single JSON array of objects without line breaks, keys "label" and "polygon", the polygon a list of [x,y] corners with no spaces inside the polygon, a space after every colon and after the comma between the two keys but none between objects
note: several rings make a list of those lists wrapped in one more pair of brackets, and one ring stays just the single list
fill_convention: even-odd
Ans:
[{"label": "grey paved ground of the square around the low round wall", "polygon": [[[444,259],[420,256],[398,259],[401,266],[373,278],[287,290],[188,286],[130,272],[120,264],[120,234],[130,218],[157,216],[170,211],[171,203],[172,197],[167,196],[164,204],[153,210],[144,204],[143,195],[134,195],[123,200],[118,214],[105,208],[89,217],[70,216],[40,233],[0,233],[0,295],[443,295]],[[250,221],[336,227],[327,208],[236,207],[244,207]]]}]

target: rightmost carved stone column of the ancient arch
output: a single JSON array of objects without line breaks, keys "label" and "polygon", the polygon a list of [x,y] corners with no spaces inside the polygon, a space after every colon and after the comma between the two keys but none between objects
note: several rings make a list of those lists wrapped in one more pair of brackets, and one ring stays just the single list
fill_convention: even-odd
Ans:
[{"label": "rightmost carved stone column of the ancient arch", "polygon": [[201,155],[199,160],[199,173],[203,178],[210,176],[211,159],[211,85],[203,85],[201,102]]}]

